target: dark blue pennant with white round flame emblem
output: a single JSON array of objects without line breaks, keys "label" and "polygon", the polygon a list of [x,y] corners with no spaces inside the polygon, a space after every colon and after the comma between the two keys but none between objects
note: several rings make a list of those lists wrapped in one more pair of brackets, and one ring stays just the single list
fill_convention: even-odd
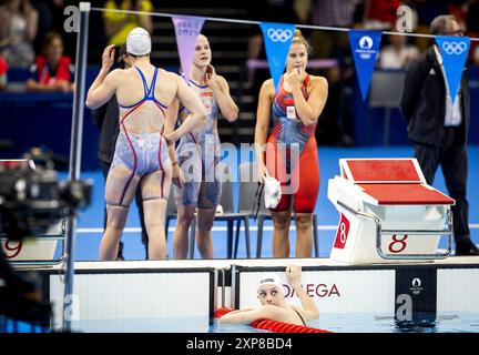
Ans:
[{"label": "dark blue pennant with white round flame emblem", "polygon": [[370,79],[375,69],[376,58],[379,52],[383,32],[377,31],[349,31],[349,44],[351,47],[356,73],[359,81],[363,100],[369,89]]}]

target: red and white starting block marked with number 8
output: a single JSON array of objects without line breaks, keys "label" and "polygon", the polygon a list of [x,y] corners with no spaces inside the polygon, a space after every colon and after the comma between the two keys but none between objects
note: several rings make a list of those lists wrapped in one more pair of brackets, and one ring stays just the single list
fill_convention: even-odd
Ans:
[{"label": "red and white starting block marked with number 8", "polygon": [[[328,181],[339,212],[330,258],[348,264],[445,258],[455,200],[426,183],[416,159],[340,159]],[[441,235],[448,235],[442,254]]]}]

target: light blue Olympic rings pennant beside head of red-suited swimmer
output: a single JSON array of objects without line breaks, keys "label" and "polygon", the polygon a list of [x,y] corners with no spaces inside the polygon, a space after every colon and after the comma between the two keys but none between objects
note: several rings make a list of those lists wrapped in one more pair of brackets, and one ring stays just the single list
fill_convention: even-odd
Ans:
[{"label": "light blue Olympic rings pennant beside head of red-suited swimmer", "polygon": [[273,78],[275,91],[277,91],[286,65],[289,45],[293,41],[295,26],[289,23],[261,22],[259,27],[263,31],[269,73]]}]

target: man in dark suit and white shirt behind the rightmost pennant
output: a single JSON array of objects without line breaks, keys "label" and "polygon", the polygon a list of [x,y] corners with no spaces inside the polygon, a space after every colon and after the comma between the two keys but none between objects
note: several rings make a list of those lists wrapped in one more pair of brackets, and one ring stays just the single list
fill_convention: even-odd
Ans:
[{"label": "man in dark suit and white shirt behind the rightmost pennant", "polygon": [[[430,24],[431,34],[461,37],[452,16],[439,16]],[[479,255],[470,240],[466,199],[468,175],[467,136],[470,122],[467,68],[460,88],[451,101],[445,79],[442,58],[436,44],[414,61],[407,70],[401,111],[407,121],[408,139],[428,184],[441,165],[452,206],[456,255]]]}]

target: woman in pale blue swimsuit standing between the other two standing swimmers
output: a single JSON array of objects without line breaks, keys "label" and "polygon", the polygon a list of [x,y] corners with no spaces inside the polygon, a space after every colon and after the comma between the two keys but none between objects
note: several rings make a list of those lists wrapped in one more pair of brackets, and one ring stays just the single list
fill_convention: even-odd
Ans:
[{"label": "woman in pale blue swimsuit standing between the other two standing swimmers", "polygon": [[[221,112],[228,122],[237,119],[238,108],[230,95],[226,80],[217,75],[211,64],[212,51],[207,38],[196,39],[188,85],[201,98],[206,111],[206,125],[184,135],[176,149],[179,164],[185,183],[174,186],[177,206],[177,222],[174,231],[173,250],[175,258],[185,258],[188,251],[188,230],[197,211],[196,244],[203,258],[213,257],[211,230],[220,202],[221,181],[216,176],[221,146],[217,133],[217,118]],[[180,110],[184,120],[187,111]],[[177,166],[180,165],[180,168]]]}]

